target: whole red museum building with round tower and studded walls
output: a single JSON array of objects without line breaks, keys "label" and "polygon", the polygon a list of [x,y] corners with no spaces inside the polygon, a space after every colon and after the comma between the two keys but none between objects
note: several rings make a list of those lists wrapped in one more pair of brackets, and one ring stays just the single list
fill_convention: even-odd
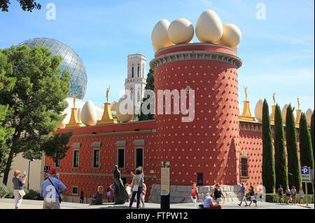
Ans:
[{"label": "whole red museum building with round tower and studded walls", "polygon": [[160,184],[161,161],[171,163],[171,185],[244,182],[246,187],[257,187],[262,184],[262,125],[239,118],[241,64],[235,50],[216,44],[179,44],[159,50],[150,62],[155,95],[158,90],[188,86],[195,90],[193,121],[182,122],[183,114],[171,109],[171,114],[155,114],[152,121],[59,129],[56,133],[73,132],[71,148],[59,163],[46,157],[45,165],[57,169],[69,201],[71,197],[77,201],[80,191],[91,198],[99,185],[107,189],[116,164],[122,180],[130,184],[130,172],[144,167],[146,198],[152,185]]}]

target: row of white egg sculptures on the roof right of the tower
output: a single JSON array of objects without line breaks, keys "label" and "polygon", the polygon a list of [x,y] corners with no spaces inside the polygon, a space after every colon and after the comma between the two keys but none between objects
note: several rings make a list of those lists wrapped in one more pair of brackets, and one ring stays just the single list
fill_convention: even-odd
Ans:
[{"label": "row of white egg sculptures on the roof right of the tower", "polygon": [[[262,106],[264,104],[264,100],[260,99],[258,100],[256,107],[255,107],[255,118],[258,121],[262,121]],[[282,121],[283,123],[286,123],[286,111],[288,109],[289,104],[284,104],[282,110],[281,110],[281,115],[282,115]],[[311,115],[313,114],[314,109],[309,108],[307,109],[307,112],[305,112],[305,117],[307,119],[307,125],[311,126]],[[293,112],[294,120],[296,121],[296,109]]]}]

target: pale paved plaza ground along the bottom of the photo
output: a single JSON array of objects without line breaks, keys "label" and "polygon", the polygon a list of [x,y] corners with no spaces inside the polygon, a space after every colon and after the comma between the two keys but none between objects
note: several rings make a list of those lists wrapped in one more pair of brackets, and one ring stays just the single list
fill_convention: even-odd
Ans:
[{"label": "pale paved plaza ground along the bottom of the photo", "polygon": [[[201,203],[197,203],[200,205]],[[62,202],[61,209],[126,209],[129,203],[123,205],[114,205],[113,203],[103,203],[103,205],[88,205],[86,203],[70,203]],[[244,205],[244,204],[243,204]],[[20,205],[20,209],[41,209],[43,207],[43,201],[33,201],[33,200],[23,200]],[[134,203],[133,208],[136,207]],[[0,199],[0,209],[13,209],[14,201],[13,199],[3,198]],[[159,203],[146,203],[145,208],[143,209],[159,209]],[[287,205],[279,203],[267,203],[259,202],[258,207],[255,208],[255,205],[251,207],[239,207],[237,202],[227,202],[222,205],[223,209],[302,209],[302,210],[314,210],[314,203],[309,204],[307,208],[306,205]],[[193,207],[193,203],[174,203],[171,204],[171,209],[197,209]]]}]

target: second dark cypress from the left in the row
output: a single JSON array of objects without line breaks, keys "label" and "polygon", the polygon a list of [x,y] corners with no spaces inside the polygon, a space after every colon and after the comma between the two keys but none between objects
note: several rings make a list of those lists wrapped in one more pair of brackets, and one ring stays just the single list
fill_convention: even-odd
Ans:
[{"label": "second dark cypress from the left in the row", "polygon": [[283,188],[288,187],[284,128],[281,109],[278,104],[276,104],[274,114],[274,169],[276,173],[276,188],[279,185]]}]

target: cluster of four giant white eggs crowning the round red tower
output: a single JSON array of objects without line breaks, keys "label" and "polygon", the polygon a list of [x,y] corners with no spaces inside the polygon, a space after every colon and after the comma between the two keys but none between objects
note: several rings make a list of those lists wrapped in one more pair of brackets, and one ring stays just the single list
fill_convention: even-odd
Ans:
[{"label": "cluster of four giant white eggs crowning the round red tower", "polygon": [[[201,43],[216,43],[237,50],[241,41],[241,31],[236,25],[223,25],[218,15],[211,10],[204,11],[197,20],[196,36]],[[194,36],[193,24],[184,18],[170,23],[160,20],[151,34],[154,51],[174,44],[190,43]]]}]

